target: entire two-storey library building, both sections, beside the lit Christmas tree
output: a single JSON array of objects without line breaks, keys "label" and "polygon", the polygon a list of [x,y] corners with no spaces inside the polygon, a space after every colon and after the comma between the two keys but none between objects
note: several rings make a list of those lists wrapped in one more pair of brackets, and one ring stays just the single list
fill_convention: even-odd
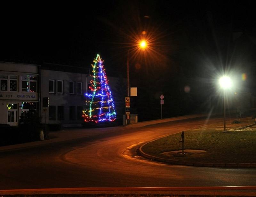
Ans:
[{"label": "entire two-storey library building, both sections, beside the lit Christmas tree", "polygon": [[[43,123],[80,126],[84,93],[92,80],[89,73],[88,68],[59,64],[0,62],[0,124],[16,126],[33,109]],[[117,78],[108,80],[114,88]],[[49,107],[43,107],[44,97],[49,98]]]}]

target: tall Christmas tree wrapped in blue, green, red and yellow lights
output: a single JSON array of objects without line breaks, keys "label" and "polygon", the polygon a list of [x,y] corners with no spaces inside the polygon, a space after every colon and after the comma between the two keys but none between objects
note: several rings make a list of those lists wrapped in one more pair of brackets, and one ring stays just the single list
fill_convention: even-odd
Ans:
[{"label": "tall Christmas tree wrapped in blue, green, red and yellow lights", "polygon": [[85,102],[88,108],[83,111],[84,122],[112,122],[116,120],[116,111],[111,91],[108,86],[107,75],[103,65],[104,60],[98,54],[92,64],[93,80],[91,80],[91,94]]}]

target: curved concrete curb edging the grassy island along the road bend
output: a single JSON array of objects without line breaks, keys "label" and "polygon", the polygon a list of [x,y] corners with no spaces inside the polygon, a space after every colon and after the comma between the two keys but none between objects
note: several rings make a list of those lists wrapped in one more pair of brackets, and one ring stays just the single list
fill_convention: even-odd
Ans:
[{"label": "curved concrete curb edging the grassy island along the road bend", "polygon": [[[153,140],[155,141],[155,140]],[[153,142],[152,141],[152,142]],[[148,142],[150,143],[150,142]],[[146,144],[148,144],[146,143]],[[146,144],[140,146],[139,153],[141,156],[156,161],[156,162],[164,162],[168,164],[174,164],[174,165],[185,165],[185,166],[195,166],[195,167],[211,167],[211,168],[256,168],[256,163],[193,163],[193,162],[185,162],[180,160],[171,160],[171,159],[165,159],[161,157],[156,157],[150,154],[145,153],[142,150],[142,147]]]}]

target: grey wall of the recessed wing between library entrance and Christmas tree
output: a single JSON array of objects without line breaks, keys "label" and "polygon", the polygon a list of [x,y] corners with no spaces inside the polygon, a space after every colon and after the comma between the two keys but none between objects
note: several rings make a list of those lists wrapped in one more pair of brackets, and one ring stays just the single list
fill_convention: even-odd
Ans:
[{"label": "grey wall of the recessed wing between library entrance and Christmas tree", "polygon": [[[53,70],[41,70],[41,100],[44,97],[49,98],[49,108],[44,112],[43,103],[41,102],[42,122],[46,118],[46,123],[61,123],[63,126],[77,126],[83,121],[79,113],[82,113],[81,107],[84,106],[84,93],[86,92],[86,79],[89,82],[90,77],[82,73],[70,73]],[[74,85],[74,92],[70,92],[70,82]],[[49,89],[49,83],[54,84],[54,88]],[[63,91],[60,91],[62,83]],[[81,92],[77,90],[82,84]],[[73,88],[71,88],[72,90]],[[58,92],[59,91],[59,92]],[[55,108],[55,113],[53,113]],[[58,110],[60,108],[60,110]],[[64,114],[62,113],[62,109]],[[70,109],[71,108],[71,109]],[[59,112],[58,112],[59,111]],[[46,115],[46,116],[45,116]]]}]

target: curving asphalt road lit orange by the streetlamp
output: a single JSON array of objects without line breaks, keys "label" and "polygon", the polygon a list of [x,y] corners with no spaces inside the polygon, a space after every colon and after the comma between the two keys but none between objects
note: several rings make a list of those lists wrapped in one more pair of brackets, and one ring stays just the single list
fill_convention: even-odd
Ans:
[{"label": "curving asphalt road lit orange by the streetlamp", "polygon": [[255,169],[176,166],[141,158],[135,152],[145,142],[204,124],[203,119],[184,120],[2,152],[0,190],[255,185]]}]

